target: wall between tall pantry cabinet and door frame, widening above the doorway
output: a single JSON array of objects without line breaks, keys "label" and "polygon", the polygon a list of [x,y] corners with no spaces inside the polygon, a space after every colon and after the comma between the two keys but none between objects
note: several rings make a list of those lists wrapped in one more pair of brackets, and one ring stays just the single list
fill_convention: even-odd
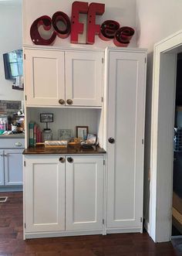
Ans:
[{"label": "wall between tall pantry cabinet and door frame, widening above the doorway", "polygon": [[148,49],[144,213],[147,220],[149,220],[150,182],[148,180],[148,172],[150,169],[153,45],[182,29],[182,2],[180,0],[137,0],[136,5],[137,46]]}]

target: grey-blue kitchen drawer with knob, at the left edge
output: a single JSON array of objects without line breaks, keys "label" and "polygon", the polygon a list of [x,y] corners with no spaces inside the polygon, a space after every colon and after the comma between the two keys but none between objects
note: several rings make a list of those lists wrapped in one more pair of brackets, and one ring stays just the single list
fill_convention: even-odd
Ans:
[{"label": "grey-blue kitchen drawer with knob, at the left edge", "polygon": [[25,138],[2,138],[0,148],[25,148]]}]

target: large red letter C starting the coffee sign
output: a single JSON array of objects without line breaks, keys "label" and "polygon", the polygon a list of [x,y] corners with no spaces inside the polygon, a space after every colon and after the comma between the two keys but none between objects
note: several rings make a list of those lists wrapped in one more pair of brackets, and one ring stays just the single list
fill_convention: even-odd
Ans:
[{"label": "large red letter C starting the coffee sign", "polygon": [[39,26],[43,26],[45,30],[50,30],[52,26],[52,20],[49,16],[41,16],[38,19],[35,19],[35,22],[32,23],[30,28],[30,36],[32,42],[37,45],[49,46],[56,39],[56,32],[52,33],[52,36],[49,39],[43,39],[39,33]]}]

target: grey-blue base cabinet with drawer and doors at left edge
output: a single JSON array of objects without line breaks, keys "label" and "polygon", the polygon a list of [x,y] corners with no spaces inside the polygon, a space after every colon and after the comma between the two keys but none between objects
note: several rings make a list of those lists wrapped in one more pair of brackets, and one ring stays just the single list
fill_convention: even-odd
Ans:
[{"label": "grey-blue base cabinet with drawer and doors at left edge", "polygon": [[[0,190],[22,186],[22,152],[24,138],[1,138],[0,149]],[[16,189],[15,189],[16,190]]]}]

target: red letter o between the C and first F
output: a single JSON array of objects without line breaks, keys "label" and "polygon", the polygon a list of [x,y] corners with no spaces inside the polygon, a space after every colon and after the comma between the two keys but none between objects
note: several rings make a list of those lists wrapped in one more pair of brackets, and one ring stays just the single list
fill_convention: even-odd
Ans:
[{"label": "red letter o between the C and first F", "polygon": [[[63,22],[66,29],[59,29],[57,26],[58,22]],[[69,16],[64,12],[55,12],[55,14],[52,16],[52,26],[60,38],[68,37],[71,32],[71,22],[69,20]]]}]

